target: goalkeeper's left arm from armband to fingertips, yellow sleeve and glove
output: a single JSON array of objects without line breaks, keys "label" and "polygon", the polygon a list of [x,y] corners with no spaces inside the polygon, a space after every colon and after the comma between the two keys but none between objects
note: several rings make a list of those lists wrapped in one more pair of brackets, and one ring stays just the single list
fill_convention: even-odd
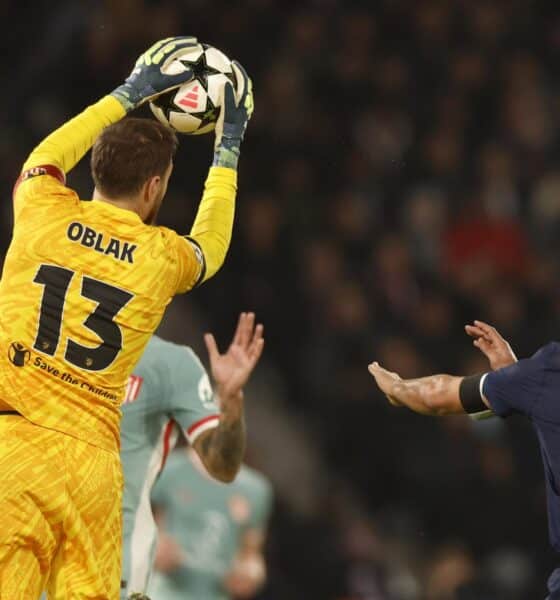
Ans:
[{"label": "goalkeeper's left arm from armband to fingertips, yellow sleeve and glove", "polygon": [[26,173],[37,173],[30,170],[43,167],[47,174],[63,181],[65,174],[92,147],[105,127],[144,102],[192,78],[189,70],[167,75],[163,69],[178,52],[194,44],[196,38],[193,37],[166,38],[154,44],[136,61],[132,73],[121,86],[62,125],[33,150],[23,166],[22,179],[26,178]]}]

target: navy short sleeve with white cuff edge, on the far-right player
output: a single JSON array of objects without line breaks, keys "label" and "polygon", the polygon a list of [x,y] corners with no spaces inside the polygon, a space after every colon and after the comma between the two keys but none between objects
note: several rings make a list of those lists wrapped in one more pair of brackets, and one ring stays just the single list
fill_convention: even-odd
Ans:
[{"label": "navy short sleeve with white cuff edge, on the far-right player", "polygon": [[556,344],[541,348],[531,358],[488,373],[481,382],[482,393],[501,417],[513,413],[533,416],[544,388],[551,358],[558,356]]}]

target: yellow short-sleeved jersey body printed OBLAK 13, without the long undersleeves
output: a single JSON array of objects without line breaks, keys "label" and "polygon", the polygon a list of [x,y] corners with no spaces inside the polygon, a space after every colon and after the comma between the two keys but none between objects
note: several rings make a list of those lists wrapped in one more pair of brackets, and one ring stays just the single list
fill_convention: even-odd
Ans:
[{"label": "yellow short-sleeved jersey body printed OBLAK 13, without the long undersleeves", "polygon": [[[38,425],[115,449],[128,376],[179,284],[190,289],[198,281],[199,258],[174,231],[145,225],[135,213],[106,202],[80,202],[74,191],[48,175],[24,181],[15,205],[14,235],[0,281],[0,398]],[[86,239],[86,228],[93,239]],[[118,246],[119,258],[105,253],[111,244]],[[120,259],[125,248],[134,248],[133,262]],[[56,328],[56,310],[42,307],[47,290],[37,280],[53,267],[71,276],[66,290],[55,286],[63,302],[56,347],[38,337],[42,316],[47,327]],[[122,337],[113,340],[113,352],[118,351],[101,370],[89,368],[103,343],[88,326],[98,302],[83,286],[92,280],[107,286],[103,296],[109,306],[118,294],[111,288],[131,295],[112,319],[105,319],[117,325]],[[68,359],[70,342],[91,349],[84,365]],[[23,354],[19,351],[22,366],[14,363],[19,348],[14,344],[25,348]]]}]

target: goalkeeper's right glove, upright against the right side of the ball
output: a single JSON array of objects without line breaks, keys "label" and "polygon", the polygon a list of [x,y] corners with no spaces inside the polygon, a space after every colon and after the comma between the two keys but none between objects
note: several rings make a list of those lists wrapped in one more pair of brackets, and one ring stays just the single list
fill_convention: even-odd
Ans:
[{"label": "goalkeeper's right glove, upright against the right side of the ball", "polygon": [[237,169],[240,146],[247,129],[247,123],[255,107],[253,101],[253,83],[245,69],[233,62],[237,78],[237,96],[231,83],[223,90],[220,116],[216,121],[216,142],[214,144],[214,166]]}]

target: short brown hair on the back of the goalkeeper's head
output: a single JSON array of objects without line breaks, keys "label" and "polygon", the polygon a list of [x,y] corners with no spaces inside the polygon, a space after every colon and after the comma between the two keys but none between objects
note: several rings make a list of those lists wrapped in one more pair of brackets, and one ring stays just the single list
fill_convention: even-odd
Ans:
[{"label": "short brown hair on the back of the goalkeeper's head", "polygon": [[177,146],[175,132],[158,121],[123,119],[104,129],[93,145],[93,181],[108,198],[135,194],[150,177],[164,175]]}]

